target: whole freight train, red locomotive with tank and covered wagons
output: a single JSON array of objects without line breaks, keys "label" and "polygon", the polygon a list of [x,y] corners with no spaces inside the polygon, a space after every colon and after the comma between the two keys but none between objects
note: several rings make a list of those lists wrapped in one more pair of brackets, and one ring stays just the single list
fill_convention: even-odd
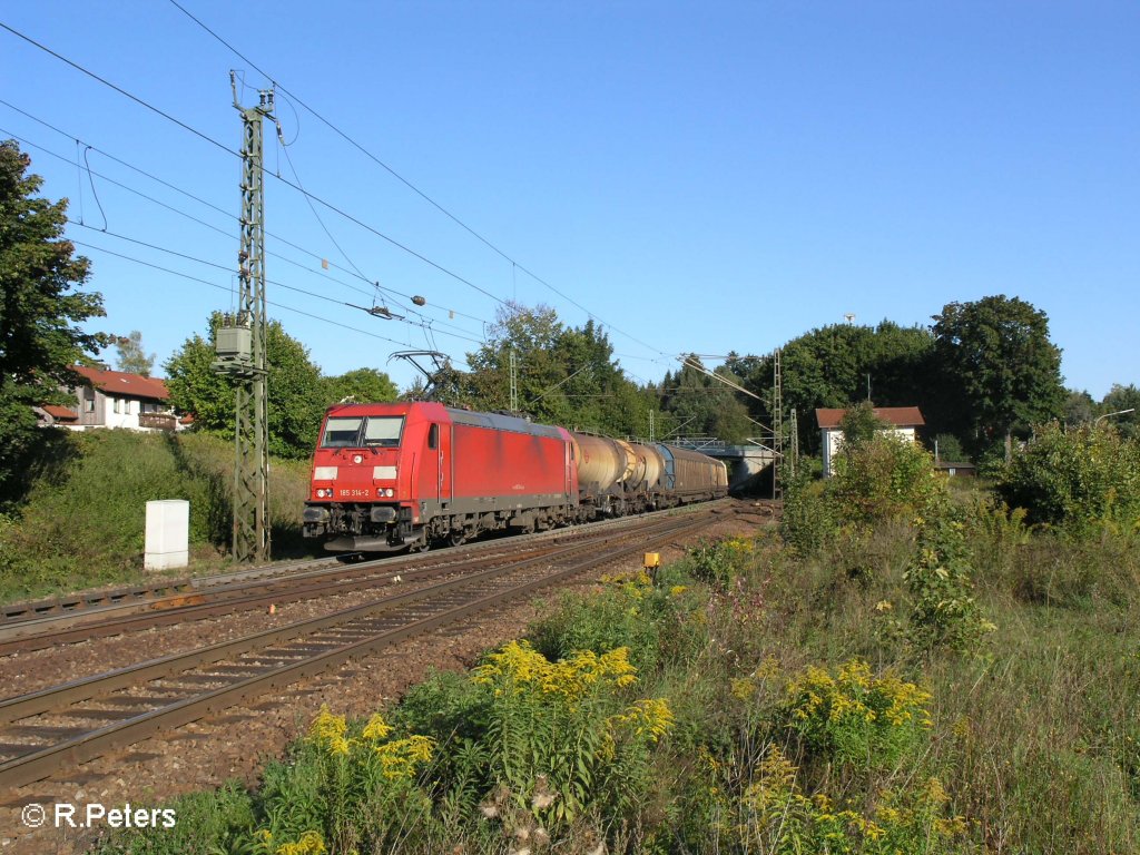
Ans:
[{"label": "whole freight train, red locomotive with tank and covered wagons", "polygon": [[425,549],[727,495],[725,465],[441,404],[331,407],[312,457],[304,536],[333,552]]}]

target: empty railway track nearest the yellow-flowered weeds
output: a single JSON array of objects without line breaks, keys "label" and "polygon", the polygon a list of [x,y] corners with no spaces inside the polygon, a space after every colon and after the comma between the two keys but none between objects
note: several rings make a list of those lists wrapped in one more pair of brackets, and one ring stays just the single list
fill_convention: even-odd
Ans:
[{"label": "empty railway track nearest the yellow-flowered weeds", "polygon": [[[0,701],[0,788],[16,788],[612,561],[702,529],[716,508],[544,545],[414,591]],[[427,578],[425,576],[425,578]],[[154,617],[153,614],[150,616]]]}]

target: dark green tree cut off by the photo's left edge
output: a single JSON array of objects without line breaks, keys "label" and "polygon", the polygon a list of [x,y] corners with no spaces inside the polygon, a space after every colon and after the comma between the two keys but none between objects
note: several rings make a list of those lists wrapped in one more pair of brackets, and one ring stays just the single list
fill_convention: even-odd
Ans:
[{"label": "dark green tree cut off by the photo's left edge", "polygon": [[0,502],[19,492],[16,474],[36,446],[38,404],[62,402],[76,385],[68,366],[109,337],[80,324],[101,317],[103,296],[79,288],[90,262],[63,239],[67,201],[36,196],[43,179],[13,140],[0,142]]}]

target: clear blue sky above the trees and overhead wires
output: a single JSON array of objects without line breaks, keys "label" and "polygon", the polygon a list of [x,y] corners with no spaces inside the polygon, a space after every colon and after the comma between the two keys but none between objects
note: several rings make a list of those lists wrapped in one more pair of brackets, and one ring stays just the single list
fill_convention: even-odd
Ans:
[{"label": "clear blue sky above the trees and overhead wires", "polygon": [[[497,247],[279,95],[290,146],[267,127],[267,166],[368,227],[317,205],[321,226],[267,179],[267,249],[295,262],[268,259],[269,300],[335,323],[270,315],[326,373],[407,384],[389,355],[432,343],[462,363],[499,307],[482,292],[589,312],[637,380],[848,312],[928,324],[1003,293],[1049,315],[1068,385],[1140,383],[1134,2],[179,1]],[[0,22],[234,149],[229,70],[246,103],[268,84],[169,0],[9,3]],[[140,329],[161,364],[231,304],[238,160],[7,31],[0,80],[64,131],[0,104],[0,136],[58,156],[27,147],[85,223],[70,236],[98,326]],[[344,304],[370,307],[373,282],[418,325]]]}]

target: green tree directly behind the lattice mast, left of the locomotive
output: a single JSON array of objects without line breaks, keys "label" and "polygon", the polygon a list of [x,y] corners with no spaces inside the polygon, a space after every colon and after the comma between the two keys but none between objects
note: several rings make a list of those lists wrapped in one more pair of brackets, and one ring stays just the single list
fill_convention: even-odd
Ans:
[{"label": "green tree directly behind the lattice mast, left of the locomotive", "polygon": [[[211,367],[220,314],[210,318],[206,337],[194,335],[166,360],[166,388],[180,413],[194,415],[195,430],[220,437],[234,435],[234,388]],[[303,458],[312,453],[325,394],[320,369],[309,351],[290,336],[277,320],[267,327],[266,353],[269,398],[269,451],[279,457]]]}]

